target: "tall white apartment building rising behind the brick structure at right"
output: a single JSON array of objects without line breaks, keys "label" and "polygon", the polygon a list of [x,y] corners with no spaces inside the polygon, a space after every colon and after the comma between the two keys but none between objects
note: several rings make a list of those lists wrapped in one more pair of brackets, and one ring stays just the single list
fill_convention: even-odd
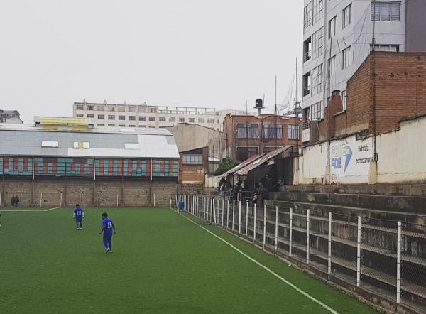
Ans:
[{"label": "tall white apartment building rising behind the brick structure at right", "polygon": [[425,0],[304,0],[303,14],[302,141],[334,90],[346,109],[346,82],[373,49],[426,50]]}]

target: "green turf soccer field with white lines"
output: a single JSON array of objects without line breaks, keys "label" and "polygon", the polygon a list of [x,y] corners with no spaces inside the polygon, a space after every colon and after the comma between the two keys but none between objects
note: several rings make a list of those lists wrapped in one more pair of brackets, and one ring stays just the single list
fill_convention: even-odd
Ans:
[{"label": "green turf soccer field with white lines", "polygon": [[[18,210],[34,211],[1,212],[0,313],[374,312],[203,226],[237,251],[169,209],[88,208],[83,230],[71,208]],[[104,253],[99,235],[102,212],[116,225],[113,254]]]}]

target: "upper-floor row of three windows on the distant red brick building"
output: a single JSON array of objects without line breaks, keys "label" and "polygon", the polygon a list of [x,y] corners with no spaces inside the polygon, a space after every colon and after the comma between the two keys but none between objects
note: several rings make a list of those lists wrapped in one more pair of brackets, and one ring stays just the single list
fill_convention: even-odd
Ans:
[{"label": "upper-floor row of three windows on the distant red brick building", "polygon": [[[288,139],[299,139],[299,126],[288,125]],[[236,137],[239,139],[258,139],[258,124],[237,124]],[[283,124],[263,124],[263,139],[283,139]]]}]

